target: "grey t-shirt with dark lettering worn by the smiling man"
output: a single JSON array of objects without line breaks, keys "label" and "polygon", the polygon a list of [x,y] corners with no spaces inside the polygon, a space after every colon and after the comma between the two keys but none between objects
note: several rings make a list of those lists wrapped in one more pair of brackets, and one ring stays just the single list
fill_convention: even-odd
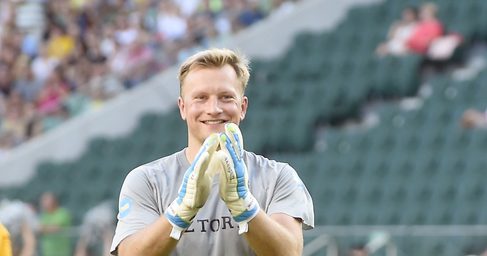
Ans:
[{"label": "grey t-shirt with dark lettering worn by the smiling man", "polygon": [[[250,191],[267,215],[285,213],[301,218],[304,230],[314,227],[313,201],[296,171],[287,163],[276,162],[244,151],[249,171]],[[185,150],[132,170],[126,177],[119,199],[118,223],[110,252],[117,255],[120,242],[161,217],[177,197],[190,163]],[[171,256],[255,255],[249,243],[238,235],[218,190],[219,174],[213,180],[210,197],[181,236]]]}]

